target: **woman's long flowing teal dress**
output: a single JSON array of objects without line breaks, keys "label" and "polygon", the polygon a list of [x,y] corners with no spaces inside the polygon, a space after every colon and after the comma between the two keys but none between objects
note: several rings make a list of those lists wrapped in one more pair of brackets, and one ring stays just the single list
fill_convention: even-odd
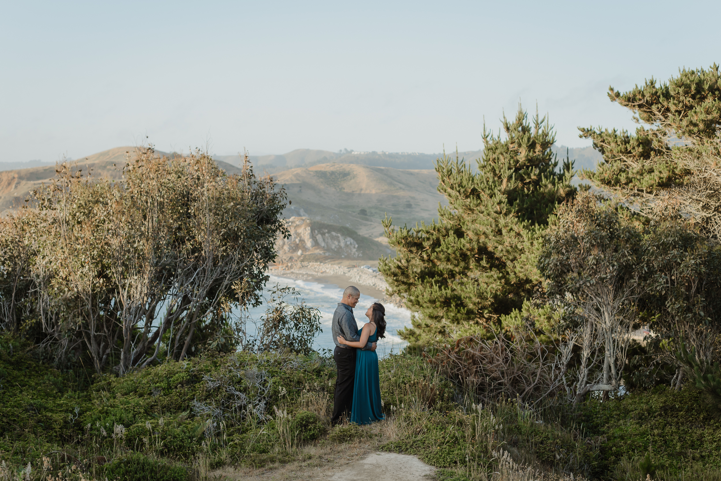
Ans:
[{"label": "woman's long flowing teal dress", "polygon": [[[363,329],[358,329],[361,336]],[[378,329],[368,342],[378,341]],[[350,422],[370,424],[384,418],[381,406],[381,382],[378,376],[378,354],[376,351],[355,349],[355,384],[353,385],[353,408]]]}]

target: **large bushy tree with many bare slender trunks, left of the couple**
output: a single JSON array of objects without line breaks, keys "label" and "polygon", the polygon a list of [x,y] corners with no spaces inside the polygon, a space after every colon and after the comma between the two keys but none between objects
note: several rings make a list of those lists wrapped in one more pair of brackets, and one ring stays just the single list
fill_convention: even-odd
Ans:
[{"label": "large bushy tree with many bare slender trunks, left of the couple", "polygon": [[[205,153],[171,159],[143,148],[123,181],[69,163],[57,173],[2,225],[15,239],[3,251],[3,300],[22,270],[20,297],[35,305],[25,330],[89,353],[97,372],[110,362],[124,374],[192,355],[228,328],[231,309],[260,303],[275,239],[287,235],[286,194],[247,157],[229,176]],[[26,244],[30,261],[9,260]]]}]

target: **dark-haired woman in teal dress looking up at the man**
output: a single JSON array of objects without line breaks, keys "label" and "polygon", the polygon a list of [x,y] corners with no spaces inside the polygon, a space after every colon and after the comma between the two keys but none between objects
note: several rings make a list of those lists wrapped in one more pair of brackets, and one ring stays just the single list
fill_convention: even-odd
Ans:
[{"label": "dark-haired woman in teal dress looking up at the man", "polygon": [[[368,307],[368,323],[358,330],[361,341],[346,341],[338,336],[338,342],[346,346],[362,348],[367,342],[386,337],[386,308],[379,302]],[[381,410],[381,383],[378,377],[378,354],[376,351],[355,351],[355,384],[353,385],[353,408],[350,422],[370,424],[385,416]]]}]

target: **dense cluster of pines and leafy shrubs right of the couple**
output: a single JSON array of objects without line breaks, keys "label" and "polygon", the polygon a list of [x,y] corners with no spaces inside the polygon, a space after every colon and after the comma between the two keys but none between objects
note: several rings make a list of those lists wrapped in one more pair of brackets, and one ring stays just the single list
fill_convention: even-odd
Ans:
[{"label": "dense cluster of pines and leafy shrubs right of the couple", "polygon": [[440,222],[384,222],[397,256],[379,269],[415,313],[400,334],[488,400],[582,409],[692,385],[719,413],[718,66],[609,99],[645,125],[580,129],[603,155],[580,192],[521,110],[505,140],[485,134],[477,171],[438,160]]}]

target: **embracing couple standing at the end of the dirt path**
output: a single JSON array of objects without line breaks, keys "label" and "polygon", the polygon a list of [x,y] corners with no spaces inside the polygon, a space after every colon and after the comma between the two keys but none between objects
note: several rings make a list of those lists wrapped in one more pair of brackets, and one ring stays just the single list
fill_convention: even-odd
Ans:
[{"label": "embracing couple standing at the end of the dirt path", "polygon": [[358,424],[370,424],[384,418],[376,343],[385,337],[386,309],[379,302],[368,307],[368,323],[358,329],[353,307],[360,298],[361,291],[357,287],[346,287],[343,299],[333,313],[333,359],[338,369],[330,420],[334,425],[341,423],[343,418]]}]

